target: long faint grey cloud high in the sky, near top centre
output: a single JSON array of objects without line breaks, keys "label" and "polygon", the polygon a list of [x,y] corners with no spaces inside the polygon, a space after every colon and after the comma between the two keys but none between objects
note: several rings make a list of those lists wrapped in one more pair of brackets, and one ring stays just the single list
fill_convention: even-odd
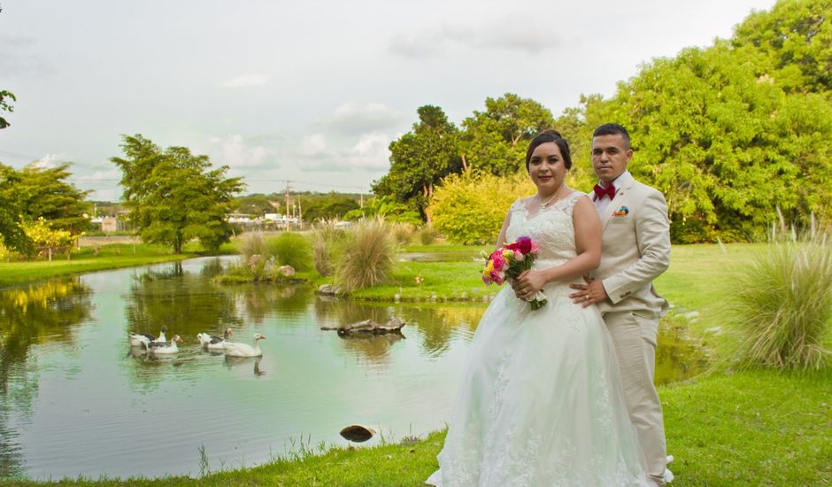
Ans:
[{"label": "long faint grey cloud high in the sky, near top centre", "polygon": [[535,55],[562,43],[546,20],[509,16],[476,27],[443,24],[409,35],[399,34],[390,39],[389,50],[404,58],[426,58],[456,44],[478,50],[515,50]]}]

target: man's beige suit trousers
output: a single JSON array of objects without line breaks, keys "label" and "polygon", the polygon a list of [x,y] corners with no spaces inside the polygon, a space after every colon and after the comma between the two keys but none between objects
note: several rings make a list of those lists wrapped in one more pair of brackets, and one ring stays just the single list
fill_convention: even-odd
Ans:
[{"label": "man's beige suit trousers", "polygon": [[647,473],[664,485],[666,468],[665,425],[659,394],[653,385],[656,368],[656,338],[659,318],[643,318],[632,312],[605,313],[621,369],[624,397],[630,420],[638,430],[638,441],[647,460]]}]

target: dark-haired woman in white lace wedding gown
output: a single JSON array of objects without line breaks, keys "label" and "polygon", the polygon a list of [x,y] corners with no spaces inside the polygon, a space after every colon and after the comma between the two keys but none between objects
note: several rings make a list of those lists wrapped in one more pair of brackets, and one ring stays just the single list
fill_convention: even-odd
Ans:
[{"label": "dark-haired woman in white lace wedding gown", "polygon": [[[529,144],[537,194],[512,205],[497,244],[530,236],[539,253],[482,316],[428,484],[652,485],[604,321],[569,298],[601,259],[597,211],[564,183],[571,166],[558,132]],[[533,311],[538,290],[549,303]]]}]

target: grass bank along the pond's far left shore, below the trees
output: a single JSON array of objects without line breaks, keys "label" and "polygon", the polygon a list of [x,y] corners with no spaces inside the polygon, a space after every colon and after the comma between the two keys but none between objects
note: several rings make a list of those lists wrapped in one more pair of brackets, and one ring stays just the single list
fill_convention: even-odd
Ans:
[{"label": "grass bank along the pond's far left shore, below the trees", "polygon": [[73,251],[72,259],[64,256],[32,262],[0,262],[0,287],[25,282],[42,281],[60,275],[81,274],[119,267],[135,267],[159,262],[196,257],[196,246],[186,247],[185,253],[175,255],[168,247],[144,243],[110,243],[100,247],[84,247]]}]

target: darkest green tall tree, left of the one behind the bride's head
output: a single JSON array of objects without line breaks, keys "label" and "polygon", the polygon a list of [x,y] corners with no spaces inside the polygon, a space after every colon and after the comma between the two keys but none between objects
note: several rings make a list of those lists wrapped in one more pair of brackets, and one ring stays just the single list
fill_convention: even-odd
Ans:
[{"label": "darkest green tall tree, left of the one behind the bride's head", "polygon": [[458,129],[438,106],[420,106],[419,122],[390,143],[390,171],[373,183],[378,196],[392,196],[425,216],[434,185],[462,168]]}]

